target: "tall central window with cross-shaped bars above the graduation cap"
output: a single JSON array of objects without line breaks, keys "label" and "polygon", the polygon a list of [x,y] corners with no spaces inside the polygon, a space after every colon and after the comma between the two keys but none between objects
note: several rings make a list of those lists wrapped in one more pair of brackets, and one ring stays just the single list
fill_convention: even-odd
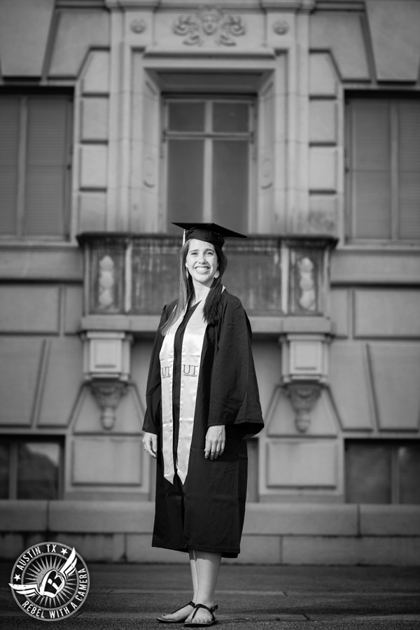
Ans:
[{"label": "tall central window with cross-shaped bars above the graduation cap", "polygon": [[165,100],[167,229],[214,221],[248,230],[253,100]]}]

